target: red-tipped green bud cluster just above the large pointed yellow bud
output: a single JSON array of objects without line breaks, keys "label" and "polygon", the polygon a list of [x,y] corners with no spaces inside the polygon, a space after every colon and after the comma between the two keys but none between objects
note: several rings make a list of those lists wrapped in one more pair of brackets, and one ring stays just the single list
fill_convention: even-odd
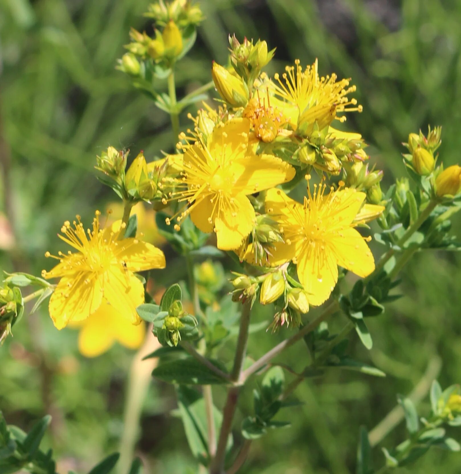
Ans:
[{"label": "red-tipped green bud cluster just above the large pointed yellow bud", "polygon": [[253,44],[253,40],[244,38],[243,43],[240,43],[235,35],[229,35],[229,44],[232,66],[248,86],[252,87],[262,68],[274,57],[275,48],[268,51],[266,41],[260,39]]}]

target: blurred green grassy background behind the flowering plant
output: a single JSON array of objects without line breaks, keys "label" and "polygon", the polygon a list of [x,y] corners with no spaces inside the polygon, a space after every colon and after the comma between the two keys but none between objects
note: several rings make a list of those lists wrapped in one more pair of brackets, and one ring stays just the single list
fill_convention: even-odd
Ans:
[{"label": "blurred green grassy background behind the flowering plant", "polygon": [[[114,199],[94,177],[102,149],[130,148],[132,155],[142,149],[148,160],[171,151],[168,116],[114,69],[129,27],[150,27],[141,16],[148,3],[0,0],[2,269],[39,274],[50,264],[43,254],[56,247],[62,222],[75,213],[89,217]],[[268,73],[295,58],[308,64],[317,57],[321,73],[353,78],[364,111],[350,114],[346,125],[369,142],[372,162],[385,170],[383,188],[405,173],[401,142],[428,124],[443,126],[443,163],[461,161],[458,0],[203,0],[201,6],[206,20],[178,65],[180,96],[210,80],[212,60],[226,62],[228,33],[261,37],[277,46]],[[158,87],[166,90],[164,83]],[[188,125],[185,117],[181,123]],[[457,227],[453,232],[461,234]],[[350,344],[352,354],[387,378],[332,371],[319,382],[306,381],[296,392],[304,405],[285,413],[293,426],[254,443],[242,472],[352,473],[359,426],[377,425],[397,393],[430,382],[439,360],[443,386],[461,381],[460,261],[455,254],[416,255],[403,274],[405,297],[369,323],[373,349],[367,352],[356,338]],[[287,334],[259,333],[250,339],[250,352],[261,355]],[[84,359],[76,332],[58,332],[44,308],[24,318],[0,348],[0,409],[24,429],[50,412],[46,443],[62,472],[83,469],[118,447],[131,357],[114,347]],[[304,357],[305,348],[294,346],[286,360],[301,369]],[[223,389],[215,392],[222,403]],[[420,408],[429,410],[427,399]],[[149,473],[183,473],[194,465],[173,409],[171,387],[152,383],[138,443]],[[404,431],[400,424],[383,446],[395,446]],[[374,456],[382,465],[379,450]],[[455,474],[459,465],[456,454],[434,451],[411,472]]]}]

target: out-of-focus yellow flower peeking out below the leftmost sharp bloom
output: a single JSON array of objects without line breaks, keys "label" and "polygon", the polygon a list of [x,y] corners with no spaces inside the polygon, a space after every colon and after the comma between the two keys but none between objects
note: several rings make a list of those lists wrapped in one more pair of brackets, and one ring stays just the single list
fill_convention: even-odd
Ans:
[{"label": "out-of-focus yellow flower peeking out below the leftmost sharp bloom", "polygon": [[132,324],[119,310],[103,302],[87,319],[69,324],[80,330],[78,349],[85,357],[100,356],[115,342],[138,349],[146,335],[144,323]]}]

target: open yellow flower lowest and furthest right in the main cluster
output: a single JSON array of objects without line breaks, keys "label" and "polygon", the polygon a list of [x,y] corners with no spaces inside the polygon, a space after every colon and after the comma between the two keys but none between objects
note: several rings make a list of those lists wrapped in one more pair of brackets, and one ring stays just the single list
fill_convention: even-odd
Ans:
[{"label": "open yellow flower lowest and furthest right in the main cluster", "polygon": [[338,265],[360,277],[375,268],[373,255],[354,227],[365,193],[345,188],[324,195],[321,184],[304,204],[283,191],[270,189],[266,212],[283,227],[285,242],[274,244],[272,265],[290,260],[297,265],[299,281],[309,294],[309,304],[318,306],[328,299],[338,281]]}]

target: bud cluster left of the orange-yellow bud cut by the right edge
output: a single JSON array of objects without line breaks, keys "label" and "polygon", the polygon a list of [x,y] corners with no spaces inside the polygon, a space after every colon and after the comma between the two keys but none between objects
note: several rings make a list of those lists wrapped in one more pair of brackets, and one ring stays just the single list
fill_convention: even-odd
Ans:
[{"label": "bud cluster left of the orange-yellow bud cut by the right edge", "polygon": [[427,137],[424,136],[421,130],[419,131],[419,135],[410,133],[410,135],[408,135],[408,143],[404,143],[404,146],[406,146],[410,152],[409,154],[404,154],[406,166],[420,176],[428,176],[431,174],[435,169],[437,161],[437,155],[434,156],[434,152],[442,143],[440,139],[441,134],[441,127],[435,127],[433,130],[429,127]]}]

